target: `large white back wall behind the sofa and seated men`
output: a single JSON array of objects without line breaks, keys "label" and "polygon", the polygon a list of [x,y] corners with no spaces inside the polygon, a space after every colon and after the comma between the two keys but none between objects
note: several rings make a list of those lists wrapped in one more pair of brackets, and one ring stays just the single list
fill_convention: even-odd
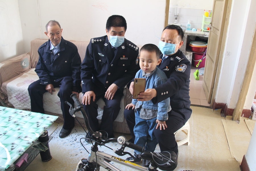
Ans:
[{"label": "large white back wall behind the sofa and seated men", "polygon": [[64,39],[90,41],[106,35],[109,16],[122,15],[127,21],[125,38],[141,46],[158,44],[164,28],[166,1],[162,0],[38,0],[39,5],[32,0],[18,2],[22,8],[20,19],[26,52],[30,50],[31,40],[47,38],[44,32],[49,20],[59,21]]}]

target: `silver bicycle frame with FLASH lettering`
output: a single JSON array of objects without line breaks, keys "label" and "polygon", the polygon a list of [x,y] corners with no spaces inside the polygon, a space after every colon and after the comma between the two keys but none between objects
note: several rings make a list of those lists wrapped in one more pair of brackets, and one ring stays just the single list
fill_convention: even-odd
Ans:
[{"label": "silver bicycle frame with FLASH lettering", "polygon": [[[104,159],[110,160],[110,161],[118,163],[118,164],[122,164],[124,166],[128,166],[130,168],[134,168],[134,169],[137,169],[137,170],[148,171],[148,169],[144,166],[140,166],[138,164],[135,164],[135,163],[132,163],[132,162],[129,162],[129,161],[125,161],[122,158],[112,156],[112,155],[104,153],[102,151],[97,151],[96,154],[97,154],[97,164],[102,166],[106,170],[121,171],[118,168],[116,168],[115,166],[113,166],[112,164],[108,163]],[[90,151],[90,154],[88,156],[87,161],[88,162],[93,162],[93,161],[96,162],[95,152]]]}]

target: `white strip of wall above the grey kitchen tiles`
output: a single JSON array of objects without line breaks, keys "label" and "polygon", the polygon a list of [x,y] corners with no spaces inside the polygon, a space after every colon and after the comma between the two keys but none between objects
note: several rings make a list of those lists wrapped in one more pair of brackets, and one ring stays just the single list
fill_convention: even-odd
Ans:
[{"label": "white strip of wall above the grey kitchen tiles", "polygon": [[170,8],[212,9],[213,0],[170,0]]}]

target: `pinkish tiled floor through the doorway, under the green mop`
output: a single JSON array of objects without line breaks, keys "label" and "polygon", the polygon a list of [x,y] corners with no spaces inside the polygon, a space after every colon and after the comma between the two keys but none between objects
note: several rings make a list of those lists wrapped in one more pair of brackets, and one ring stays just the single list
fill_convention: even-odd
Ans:
[{"label": "pinkish tiled floor through the doorway, under the green mop", "polygon": [[199,80],[195,80],[194,72],[197,68],[191,67],[190,72],[190,84],[189,84],[189,96],[191,105],[210,106],[206,100],[205,92],[203,89],[203,76],[199,74]]}]

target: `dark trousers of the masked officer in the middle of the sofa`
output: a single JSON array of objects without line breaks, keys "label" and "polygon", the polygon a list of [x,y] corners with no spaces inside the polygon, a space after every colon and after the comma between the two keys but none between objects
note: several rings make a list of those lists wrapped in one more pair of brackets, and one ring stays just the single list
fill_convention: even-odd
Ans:
[{"label": "dark trousers of the masked officer in the middle of the sofa", "polygon": [[[106,92],[106,91],[105,91]],[[88,116],[90,127],[92,131],[106,131],[108,133],[108,137],[113,137],[113,121],[117,118],[117,115],[120,111],[120,102],[123,96],[123,92],[120,89],[117,89],[115,95],[112,100],[106,99],[105,92],[101,95],[97,95],[95,101],[90,101],[90,105],[83,105],[84,110]],[[105,102],[105,106],[103,108],[103,115],[101,119],[101,124],[99,127],[99,122],[97,119],[98,116],[98,105],[96,102],[102,97],[103,101]]]}]

